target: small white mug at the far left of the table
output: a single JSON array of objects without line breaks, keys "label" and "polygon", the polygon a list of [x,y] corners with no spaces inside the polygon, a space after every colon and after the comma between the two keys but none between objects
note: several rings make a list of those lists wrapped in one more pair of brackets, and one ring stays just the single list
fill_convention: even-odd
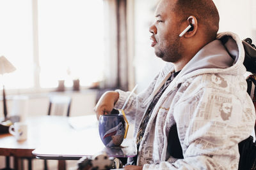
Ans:
[{"label": "small white mug at the far left of the table", "polygon": [[15,136],[17,141],[24,141],[27,139],[28,125],[24,122],[15,122],[9,127],[9,132]]}]

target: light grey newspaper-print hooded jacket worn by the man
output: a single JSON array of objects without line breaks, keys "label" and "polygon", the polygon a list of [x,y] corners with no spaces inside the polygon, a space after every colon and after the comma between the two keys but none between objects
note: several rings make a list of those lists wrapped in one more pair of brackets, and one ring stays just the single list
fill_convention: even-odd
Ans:
[{"label": "light grey newspaper-print hooded jacket worn by the man", "polygon": [[[237,169],[238,143],[248,138],[255,109],[246,93],[244,49],[232,32],[218,34],[191,59],[159,99],[138,151],[143,169]],[[125,108],[134,138],[154,94],[173,73],[167,63],[149,87],[132,94]],[[129,92],[119,92],[116,109]],[[184,159],[168,155],[168,133],[177,124]]]}]

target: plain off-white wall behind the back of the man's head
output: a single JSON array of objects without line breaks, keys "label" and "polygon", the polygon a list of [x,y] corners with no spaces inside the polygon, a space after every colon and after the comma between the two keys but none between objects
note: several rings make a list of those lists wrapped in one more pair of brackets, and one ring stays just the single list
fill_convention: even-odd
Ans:
[{"label": "plain off-white wall behind the back of the man's head", "polygon": [[232,31],[241,39],[252,38],[256,43],[255,0],[213,0],[220,13],[220,32]]}]

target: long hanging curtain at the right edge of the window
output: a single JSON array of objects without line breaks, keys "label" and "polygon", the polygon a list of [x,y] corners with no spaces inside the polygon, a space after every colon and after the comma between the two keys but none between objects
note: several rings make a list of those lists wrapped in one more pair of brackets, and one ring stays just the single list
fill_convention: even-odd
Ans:
[{"label": "long hanging curtain at the right edge of the window", "polygon": [[126,0],[104,0],[106,59],[104,88],[128,89]]}]

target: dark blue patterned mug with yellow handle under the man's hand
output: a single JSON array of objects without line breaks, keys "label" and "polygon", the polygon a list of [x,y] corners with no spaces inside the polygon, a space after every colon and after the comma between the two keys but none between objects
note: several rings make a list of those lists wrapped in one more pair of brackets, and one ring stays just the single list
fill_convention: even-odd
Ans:
[{"label": "dark blue patterned mug with yellow handle under the man's hand", "polygon": [[101,115],[99,118],[100,139],[107,147],[120,146],[128,129],[124,110],[119,110],[119,114]]}]

